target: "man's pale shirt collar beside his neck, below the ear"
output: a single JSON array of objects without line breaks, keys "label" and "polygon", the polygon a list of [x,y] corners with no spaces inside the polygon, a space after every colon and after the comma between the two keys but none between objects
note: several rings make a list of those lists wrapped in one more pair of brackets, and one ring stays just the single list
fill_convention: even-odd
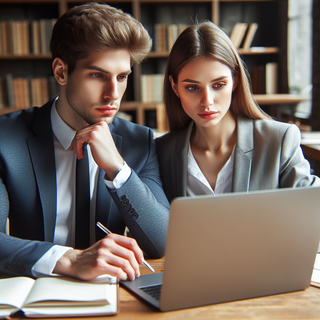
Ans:
[{"label": "man's pale shirt collar beside his neck, below the ear", "polygon": [[71,142],[76,135],[76,131],[66,124],[60,117],[56,104],[59,97],[53,101],[51,107],[51,125],[54,135],[57,137],[62,147],[67,150],[70,148]]}]

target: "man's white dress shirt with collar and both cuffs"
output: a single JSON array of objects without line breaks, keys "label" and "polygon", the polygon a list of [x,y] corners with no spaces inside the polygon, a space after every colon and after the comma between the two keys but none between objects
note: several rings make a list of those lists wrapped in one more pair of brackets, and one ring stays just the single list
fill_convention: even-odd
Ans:
[{"label": "man's white dress shirt with collar and both cuffs", "polygon": [[[58,99],[58,98],[57,98]],[[59,116],[56,101],[51,108],[51,124],[54,140],[54,154],[57,175],[57,218],[54,229],[54,245],[33,266],[34,276],[52,275],[60,257],[75,246],[75,195],[76,195],[76,154],[70,151],[76,131]],[[95,243],[95,208],[99,167],[94,162],[90,146],[87,146],[90,172],[90,244]],[[124,163],[113,181],[105,180],[108,188],[120,188],[130,177],[131,169]]]}]

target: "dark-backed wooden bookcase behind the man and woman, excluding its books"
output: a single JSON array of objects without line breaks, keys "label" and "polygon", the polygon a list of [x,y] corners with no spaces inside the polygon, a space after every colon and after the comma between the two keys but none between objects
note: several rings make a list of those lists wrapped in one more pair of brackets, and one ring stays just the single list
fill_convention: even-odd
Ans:
[{"label": "dark-backed wooden bookcase behind the man and woman, excluding its books", "polygon": [[[34,20],[40,20],[42,18],[58,18],[58,16],[66,12],[70,6],[85,2],[86,1],[84,0],[0,0],[0,4],[5,4],[5,7],[8,7],[7,11],[10,11],[10,16],[7,17],[3,14],[2,20],[30,20],[30,18],[33,18]],[[97,2],[105,3],[104,0],[97,0]],[[266,62],[275,61],[280,62],[279,66],[281,68],[279,68],[279,76],[280,78],[284,78],[283,75],[286,75],[287,72],[287,64],[283,63],[281,58],[283,55],[280,55],[279,52],[284,52],[284,48],[286,48],[286,41],[282,41],[282,38],[279,38],[279,41],[274,40],[277,38],[277,34],[274,35],[275,30],[277,31],[281,27],[281,24],[277,24],[276,20],[272,21],[272,24],[270,24],[269,20],[265,19],[265,17],[268,18],[268,15],[270,14],[275,13],[276,15],[281,12],[278,3],[282,2],[285,2],[285,0],[109,0],[107,3],[113,6],[119,6],[120,4],[124,5],[124,10],[129,10],[129,12],[136,19],[140,20],[143,25],[149,28],[149,32],[153,37],[154,34],[152,28],[155,23],[163,23],[165,25],[168,25],[170,23],[188,24],[189,22],[191,23],[190,17],[192,16],[191,19],[193,19],[193,15],[195,14],[198,15],[198,19],[212,20],[218,25],[221,25],[221,27],[225,28],[228,32],[231,31],[232,24],[235,23],[234,20],[236,20],[237,22],[246,22],[248,23],[248,25],[252,21],[256,21],[259,24],[256,37],[256,40],[258,39],[258,41],[253,42],[253,47],[249,50],[244,50],[242,48],[238,49],[239,52],[245,57],[244,60],[248,67],[248,71],[251,72],[250,68],[253,68],[254,66],[265,65]],[[20,7],[19,4],[21,4],[21,10],[24,10],[24,7],[28,9],[28,4],[30,4],[32,10],[36,10],[37,12],[35,12],[34,16],[32,12],[28,12],[26,16],[23,16],[23,14],[21,16],[21,10],[19,8],[15,16],[15,7],[18,9],[18,7]],[[56,8],[56,13],[54,13],[54,15],[50,12],[45,12],[42,14],[41,4],[47,4],[50,8]],[[162,4],[164,8],[171,8],[172,4],[173,16],[171,18],[167,19],[166,12],[163,11],[163,8],[161,6]],[[239,9],[240,7],[241,9]],[[244,12],[246,12],[249,7],[251,12],[249,14],[250,17],[244,15]],[[266,10],[261,11],[261,8],[264,8]],[[159,14],[155,12],[158,9],[159,11],[161,11],[159,12]],[[183,13],[184,11],[182,9],[185,9],[186,13]],[[234,16],[234,19],[232,21],[229,19],[229,16],[231,14],[233,14]],[[186,19],[184,19],[184,17],[188,17],[189,22],[186,22]],[[277,21],[278,20],[279,18],[277,18]],[[283,27],[283,30],[284,32],[286,32],[286,28]],[[277,47],[277,45],[279,47]],[[168,52],[150,52],[147,55],[147,61],[144,62],[144,64],[134,65],[133,84],[131,87],[128,87],[128,89],[130,90],[130,95],[128,94],[128,98],[135,99],[137,101],[124,101],[120,106],[121,111],[130,111],[131,113],[136,112],[136,119],[137,123],[139,124],[145,124],[144,119],[146,110],[155,110],[157,125],[160,126],[160,130],[161,126],[163,125],[161,124],[161,119],[163,119],[163,104],[161,102],[142,103],[140,101],[140,76],[141,74],[163,73],[165,67],[165,59],[168,58],[168,55]],[[267,55],[270,55],[270,57],[268,57]],[[29,69],[34,70],[34,68],[32,68],[33,65],[37,65],[36,75],[46,75],[48,74],[46,68],[49,67],[48,62],[50,60],[51,54],[0,55],[0,61],[3,66],[1,77],[4,78],[6,74],[12,73],[13,78],[28,78],[29,74],[31,73]],[[24,62],[26,63],[26,66],[28,66],[28,68],[24,70],[23,68],[17,67]],[[15,64],[17,66],[15,66]],[[283,68],[283,66],[285,67]],[[286,92],[288,90],[287,84],[279,85],[279,90],[281,90],[282,92]],[[308,100],[307,97],[289,94],[256,95],[255,98],[260,105],[294,104],[300,101]],[[19,110],[19,108],[0,109],[0,115],[15,110]],[[160,118],[160,121],[158,121],[158,118]]]}]

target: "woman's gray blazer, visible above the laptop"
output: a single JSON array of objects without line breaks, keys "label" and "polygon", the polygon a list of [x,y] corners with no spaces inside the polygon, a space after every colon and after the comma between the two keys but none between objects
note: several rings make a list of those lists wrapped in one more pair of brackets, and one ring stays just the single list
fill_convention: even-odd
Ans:
[{"label": "woman's gray blazer, visible above the laptop", "polygon": [[[172,201],[187,195],[188,144],[194,122],[156,139],[164,192]],[[320,186],[300,148],[294,124],[237,118],[232,192]]]}]

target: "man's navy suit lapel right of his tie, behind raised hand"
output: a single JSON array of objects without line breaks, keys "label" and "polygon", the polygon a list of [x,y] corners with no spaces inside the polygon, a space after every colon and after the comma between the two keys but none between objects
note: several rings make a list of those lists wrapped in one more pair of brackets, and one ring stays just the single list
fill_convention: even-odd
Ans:
[{"label": "man's navy suit lapel right of his tie, behind raised hand", "polygon": [[[116,122],[116,118],[115,121]],[[111,136],[115,145],[121,154],[121,145],[122,145],[122,137],[113,132],[115,126],[114,124],[109,125],[109,130],[111,132]],[[105,226],[109,224],[109,217],[111,212],[111,207],[113,205],[113,201],[106,187],[106,183],[104,181],[105,171],[99,169],[99,177],[97,183],[97,196],[96,196],[96,215],[95,215],[95,223],[100,221]],[[100,230],[99,228],[95,228],[96,230],[96,241],[103,238],[106,234]]]}]

